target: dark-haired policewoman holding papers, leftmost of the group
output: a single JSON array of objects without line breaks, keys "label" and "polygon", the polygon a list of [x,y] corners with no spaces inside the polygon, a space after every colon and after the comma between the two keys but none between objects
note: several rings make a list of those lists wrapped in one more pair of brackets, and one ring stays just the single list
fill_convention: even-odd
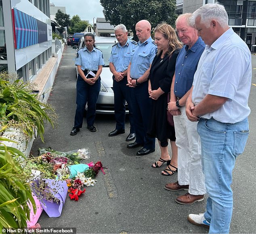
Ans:
[{"label": "dark-haired policewoman holding papers, leftmost of the group", "polygon": [[[76,82],[76,115],[75,123],[70,135],[76,135],[83,124],[84,109],[87,108],[87,128],[91,132],[96,132],[93,126],[96,111],[96,102],[101,88],[100,74],[104,65],[101,50],[94,47],[94,35],[86,33],[84,35],[84,48],[78,50],[76,55],[76,66],[78,67],[78,79]],[[91,71],[95,74],[91,74]],[[89,73],[90,72],[90,73]],[[86,77],[87,76],[87,77]]]}]

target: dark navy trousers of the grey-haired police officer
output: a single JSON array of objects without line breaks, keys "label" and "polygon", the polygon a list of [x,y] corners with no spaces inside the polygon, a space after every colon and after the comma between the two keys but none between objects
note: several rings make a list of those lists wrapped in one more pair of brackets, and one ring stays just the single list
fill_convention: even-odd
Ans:
[{"label": "dark navy trousers of the grey-haired police officer", "polygon": [[129,109],[129,121],[130,121],[130,133],[135,133],[132,101],[131,101],[131,88],[126,86],[127,76],[125,76],[119,82],[114,80],[113,76],[113,91],[114,91],[114,101],[115,101],[115,129],[123,130],[125,129],[125,100],[128,104]]}]

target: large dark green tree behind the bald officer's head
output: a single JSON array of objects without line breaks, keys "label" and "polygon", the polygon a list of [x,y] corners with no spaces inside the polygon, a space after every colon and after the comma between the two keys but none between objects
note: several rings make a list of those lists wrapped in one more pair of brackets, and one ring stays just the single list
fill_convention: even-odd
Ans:
[{"label": "large dark green tree behind the bald officer's head", "polygon": [[135,25],[146,19],[151,23],[152,30],[157,24],[166,22],[174,27],[177,15],[175,14],[176,0],[100,0],[103,14],[112,25],[120,23],[136,37]]}]

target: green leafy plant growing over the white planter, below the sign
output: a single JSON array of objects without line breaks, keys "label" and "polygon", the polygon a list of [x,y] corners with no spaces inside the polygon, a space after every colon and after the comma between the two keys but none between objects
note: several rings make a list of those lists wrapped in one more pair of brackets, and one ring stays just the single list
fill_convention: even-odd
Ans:
[{"label": "green leafy plant growing over the white planter, below the sign", "polygon": [[51,123],[56,115],[49,104],[33,94],[34,85],[23,82],[8,73],[0,73],[0,125],[2,130],[18,127],[30,138],[36,127],[38,135],[44,140],[44,121]]}]

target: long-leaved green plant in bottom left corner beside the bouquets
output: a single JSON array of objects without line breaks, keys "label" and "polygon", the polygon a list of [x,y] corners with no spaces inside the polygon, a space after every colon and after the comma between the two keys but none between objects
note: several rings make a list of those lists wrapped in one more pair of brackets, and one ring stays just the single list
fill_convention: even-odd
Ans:
[{"label": "long-leaved green plant in bottom left corner beside the bouquets", "polygon": [[30,213],[27,202],[31,201],[34,212],[36,204],[27,182],[28,177],[18,160],[25,156],[2,141],[10,140],[0,137],[0,230],[26,228]]}]

